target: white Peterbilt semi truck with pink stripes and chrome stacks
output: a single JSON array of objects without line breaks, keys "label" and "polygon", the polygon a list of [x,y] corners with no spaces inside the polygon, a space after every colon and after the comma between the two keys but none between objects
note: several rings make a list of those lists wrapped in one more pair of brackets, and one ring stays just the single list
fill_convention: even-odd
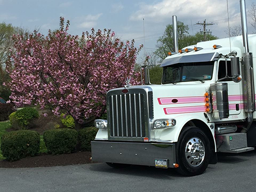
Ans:
[{"label": "white Peterbilt semi truck with pink stripes and chrome stacks", "polygon": [[145,81],[107,93],[107,120],[92,145],[92,160],[112,167],[131,164],[175,168],[202,174],[218,162],[217,152],[243,153],[256,146],[254,82],[256,35],[247,35],[241,0],[243,36],[199,42],[174,49],[161,63],[161,85]]}]

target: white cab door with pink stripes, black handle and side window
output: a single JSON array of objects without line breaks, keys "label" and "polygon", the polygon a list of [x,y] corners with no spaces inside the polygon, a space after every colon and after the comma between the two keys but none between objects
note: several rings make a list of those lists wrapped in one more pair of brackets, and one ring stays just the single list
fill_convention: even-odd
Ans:
[{"label": "white cab door with pink stripes, black handle and side window", "polygon": [[239,83],[233,82],[231,77],[230,59],[227,59],[227,77],[226,77],[226,61],[221,58],[218,60],[218,82],[228,84],[228,102],[229,115],[238,115],[241,109],[244,109],[242,81]]}]

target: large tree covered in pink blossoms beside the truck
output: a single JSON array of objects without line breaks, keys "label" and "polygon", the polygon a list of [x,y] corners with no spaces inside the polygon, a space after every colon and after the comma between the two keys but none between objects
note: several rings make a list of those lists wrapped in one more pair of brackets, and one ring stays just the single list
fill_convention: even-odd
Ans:
[{"label": "large tree covered in pink blossoms beside the truck", "polygon": [[14,50],[7,63],[15,105],[53,107],[77,123],[90,123],[106,111],[106,93],[122,87],[127,77],[140,83],[134,64],[140,49],[111,30],[94,29],[81,37],[68,34],[69,21],[44,36],[36,31],[28,39],[14,35]]}]

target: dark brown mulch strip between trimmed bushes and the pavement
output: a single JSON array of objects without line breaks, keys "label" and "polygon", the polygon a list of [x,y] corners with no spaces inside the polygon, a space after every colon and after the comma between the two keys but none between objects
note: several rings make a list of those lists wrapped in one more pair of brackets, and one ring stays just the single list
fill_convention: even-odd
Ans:
[{"label": "dark brown mulch strip between trimmed bushes and the pavement", "polygon": [[0,161],[1,168],[25,168],[25,167],[49,167],[49,166],[65,166],[92,163],[90,160],[91,152],[83,151],[73,154],[47,155],[40,154],[35,157],[26,157],[19,161],[8,162]]}]

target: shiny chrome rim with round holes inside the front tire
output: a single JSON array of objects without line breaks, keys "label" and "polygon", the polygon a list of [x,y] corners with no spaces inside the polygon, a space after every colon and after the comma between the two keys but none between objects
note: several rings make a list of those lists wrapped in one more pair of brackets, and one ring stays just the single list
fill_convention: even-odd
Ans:
[{"label": "shiny chrome rim with round holes inside the front tire", "polygon": [[203,141],[197,137],[191,138],[186,144],[185,155],[189,165],[201,165],[205,157]]}]

